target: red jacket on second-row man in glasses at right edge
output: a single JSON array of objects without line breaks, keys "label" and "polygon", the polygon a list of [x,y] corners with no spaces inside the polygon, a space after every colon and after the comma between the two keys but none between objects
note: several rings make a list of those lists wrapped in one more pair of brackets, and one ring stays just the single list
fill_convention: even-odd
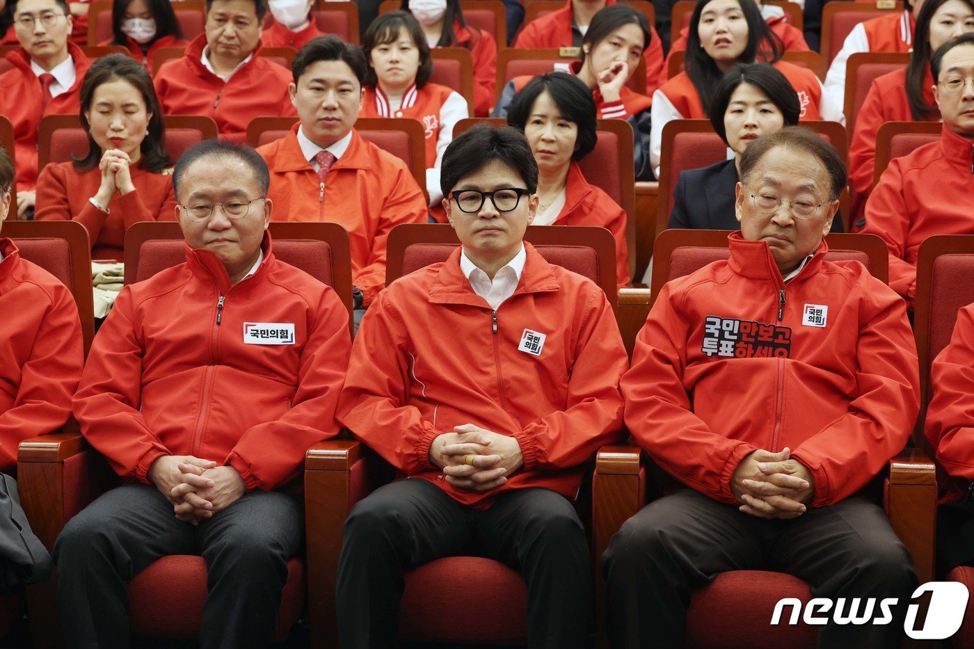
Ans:
[{"label": "red jacket on second-row man in glasses at right edge", "polygon": [[912,303],[923,240],[974,234],[974,139],[945,124],[939,141],[890,160],[866,202],[863,232],[886,242],[889,286]]}]

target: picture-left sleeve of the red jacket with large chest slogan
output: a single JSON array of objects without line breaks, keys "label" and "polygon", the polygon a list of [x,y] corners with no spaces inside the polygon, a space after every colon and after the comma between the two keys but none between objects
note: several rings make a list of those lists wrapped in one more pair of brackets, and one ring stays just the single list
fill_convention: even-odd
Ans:
[{"label": "picture-left sleeve of the red jacket with large chest slogan", "polygon": [[690,325],[679,295],[663,286],[636,337],[632,367],[622,377],[625,424],[666,473],[722,503],[734,503],[731,476],[758,450],[714,433],[693,413],[684,383]]}]

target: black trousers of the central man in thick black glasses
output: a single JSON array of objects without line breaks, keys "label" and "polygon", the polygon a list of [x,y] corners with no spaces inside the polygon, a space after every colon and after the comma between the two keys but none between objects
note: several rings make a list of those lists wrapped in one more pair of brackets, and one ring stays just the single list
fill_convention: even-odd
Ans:
[{"label": "black trousers of the central man in thick black glasses", "polygon": [[336,587],[341,646],[392,646],[405,573],[458,554],[492,558],[524,575],[531,647],[591,646],[591,558],[572,504],[532,488],[474,510],[424,479],[380,487],[345,521]]}]

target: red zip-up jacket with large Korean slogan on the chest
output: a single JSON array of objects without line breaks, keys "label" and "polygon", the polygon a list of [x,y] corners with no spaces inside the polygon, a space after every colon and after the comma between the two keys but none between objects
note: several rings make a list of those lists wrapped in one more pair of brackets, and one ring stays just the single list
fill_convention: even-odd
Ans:
[{"label": "red zip-up jacket with large Korean slogan on the chest", "polygon": [[842,501],[910,438],[919,410],[906,307],[823,241],[782,280],[765,242],[731,233],[731,258],[663,286],[622,377],[625,423],[656,463],[733,503],[741,460],[785,446]]}]

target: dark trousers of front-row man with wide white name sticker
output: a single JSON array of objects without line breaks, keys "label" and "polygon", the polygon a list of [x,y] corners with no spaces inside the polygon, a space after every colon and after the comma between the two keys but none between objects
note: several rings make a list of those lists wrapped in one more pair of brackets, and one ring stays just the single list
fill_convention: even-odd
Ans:
[{"label": "dark trousers of front-row man with wide white name sticker", "polygon": [[[287,560],[303,538],[296,497],[254,491],[198,526],[176,520],[154,486],[101,495],[57,537],[57,602],[69,647],[128,647],[128,582],[168,554],[202,554],[208,595],[202,647],[263,647],[274,630]],[[166,593],[160,600],[165,602]]]}]

